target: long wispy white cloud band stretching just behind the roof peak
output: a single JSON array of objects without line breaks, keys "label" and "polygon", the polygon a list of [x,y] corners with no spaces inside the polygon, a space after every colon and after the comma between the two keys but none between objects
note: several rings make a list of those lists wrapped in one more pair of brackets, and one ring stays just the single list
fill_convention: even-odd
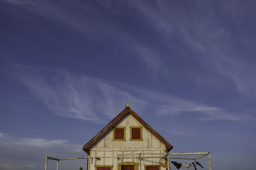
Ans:
[{"label": "long wispy white cloud band stretching just behind the roof peak", "polygon": [[[147,112],[148,108],[160,116],[178,117],[193,113],[197,115],[195,118],[204,121],[239,121],[249,117],[244,113],[232,113],[224,108],[133,87],[127,83],[90,78],[60,69],[51,69],[51,76],[46,78],[40,71],[35,71],[36,69],[38,68],[33,67],[34,71],[20,76],[20,82],[45,106],[65,117],[105,122],[115,117],[120,111],[120,106],[127,102],[132,103],[132,108],[136,111],[143,113]],[[47,72],[47,69],[43,70]],[[33,74],[34,72],[37,74]]]}]

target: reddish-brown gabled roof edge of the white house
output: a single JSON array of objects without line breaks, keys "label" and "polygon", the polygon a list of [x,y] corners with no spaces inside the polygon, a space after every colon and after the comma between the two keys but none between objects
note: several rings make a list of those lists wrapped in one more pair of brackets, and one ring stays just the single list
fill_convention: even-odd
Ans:
[{"label": "reddish-brown gabled roof edge of the white house", "polygon": [[90,150],[90,147],[97,140],[99,140],[104,134],[106,134],[106,132],[108,132],[117,122],[119,122],[119,120],[121,120],[127,114],[131,114],[134,118],[136,118],[136,120],[138,120],[138,122],[140,122],[143,125],[143,127],[145,127],[145,129],[150,131],[152,134],[154,134],[154,136],[156,136],[157,139],[159,139],[159,141],[164,143],[166,150],[168,150],[168,152],[170,150],[172,150],[173,146],[170,145],[170,143],[168,143],[168,141],[166,141],[160,134],[158,134],[154,129],[152,129],[152,127],[150,127],[150,125],[148,125],[146,122],[144,122],[144,120],[142,120],[142,118],[140,118],[140,116],[137,115],[130,108],[125,108],[119,115],[117,115],[111,122],[109,122],[109,124],[106,125],[106,127],[104,127],[98,134],[96,134],[96,136],[94,136],[90,141],[88,141],[88,143],[86,143],[86,145],[83,146],[83,150],[85,152],[88,152]]}]

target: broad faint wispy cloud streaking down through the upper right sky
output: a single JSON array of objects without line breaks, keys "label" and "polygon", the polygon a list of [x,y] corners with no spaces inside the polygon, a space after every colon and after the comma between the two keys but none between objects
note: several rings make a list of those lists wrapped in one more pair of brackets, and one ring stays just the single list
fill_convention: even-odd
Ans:
[{"label": "broad faint wispy cloud streaking down through the upper right sky", "polygon": [[[179,10],[170,10],[170,5],[173,4],[168,1],[157,1],[152,4],[138,1],[130,4],[134,9],[141,11],[144,21],[158,33],[164,46],[170,48],[174,40],[182,45],[182,48],[187,49],[189,58],[195,59],[202,67],[216,74],[230,78],[241,94],[256,97],[255,64],[243,59],[253,58],[255,53],[252,36],[244,32],[246,30],[244,27],[239,27],[236,31],[230,25],[223,23],[224,20],[235,25],[243,22],[246,15],[252,12],[251,8],[246,6],[246,10],[236,1],[232,4],[222,2],[214,10],[209,6],[215,6],[215,3],[205,4],[196,1],[187,3],[188,11],[184,12],[183,9],[181,13]],[[184,8],[182,3],[175,4],[177,9],[181,6]],[[194,10],[191,11],[191,8]],[[195,10],[199,8],[201,10]],[[220,18],[220,15],[225,18]],[[201,83],[198,82],[198,85],[200,86]]]}]

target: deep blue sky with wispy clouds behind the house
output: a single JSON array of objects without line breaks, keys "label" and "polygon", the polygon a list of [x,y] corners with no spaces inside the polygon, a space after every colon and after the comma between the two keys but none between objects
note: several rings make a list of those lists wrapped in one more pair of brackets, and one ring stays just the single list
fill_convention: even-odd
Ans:
[{"label": "deep blue sky with wispy clouds behind the house", "polygon": [[172,152],[255,169],[255,15],[255,1],[0,0],[0,169],[86,155],[127,102]]}]

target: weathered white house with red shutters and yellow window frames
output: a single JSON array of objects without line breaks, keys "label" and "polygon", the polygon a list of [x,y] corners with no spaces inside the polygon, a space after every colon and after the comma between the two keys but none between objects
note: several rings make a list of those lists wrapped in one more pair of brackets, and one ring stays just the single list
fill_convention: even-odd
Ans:
[{"label": "weathered white house with red shutters and yellow window frames", "polygon": [[88,169],[165,170],[168,166],[164,158],[173,146],[132,111],[129,104],[125,106],[83,146],[90,156]]}]

